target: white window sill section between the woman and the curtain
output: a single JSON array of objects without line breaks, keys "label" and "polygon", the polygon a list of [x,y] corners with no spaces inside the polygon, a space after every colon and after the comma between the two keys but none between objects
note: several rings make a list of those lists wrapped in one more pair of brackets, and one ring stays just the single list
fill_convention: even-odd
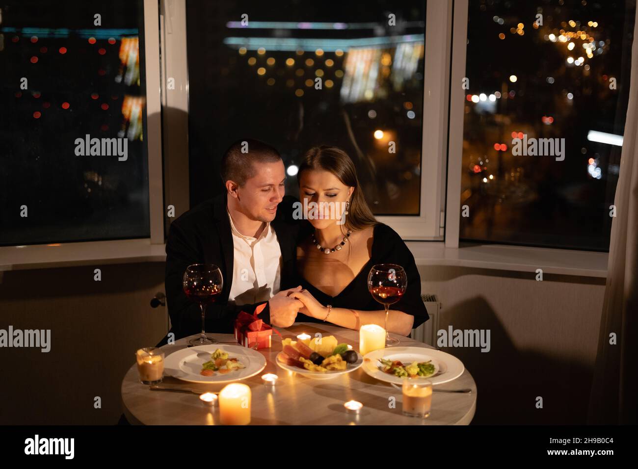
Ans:
[{"label": "white window sill section between the woman and the curtain", "polygon": [[482,244],[446,248],[444,242],[406,242],[417,265],[454,265],[477,269],[531,272],[581,277],[607,277],[608,253],[570,249],[528,248]]}]

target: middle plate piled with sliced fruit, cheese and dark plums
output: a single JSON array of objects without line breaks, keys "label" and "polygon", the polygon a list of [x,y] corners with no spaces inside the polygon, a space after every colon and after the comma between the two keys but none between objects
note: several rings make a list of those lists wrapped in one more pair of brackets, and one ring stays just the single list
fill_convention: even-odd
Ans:
[{"label": "middle plate piled with sliced fruit, cheese and dark plums", "polygon": [[327,380],[350,373],[363,364],[363,357],[334,336],[313,339],[286,338],[283,350],[277,355],[277,364],[288,371],[317,380]]}]

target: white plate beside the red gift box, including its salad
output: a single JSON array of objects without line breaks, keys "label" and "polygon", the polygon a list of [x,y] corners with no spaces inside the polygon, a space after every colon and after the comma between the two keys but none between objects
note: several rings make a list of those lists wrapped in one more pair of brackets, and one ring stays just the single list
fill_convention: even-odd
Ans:
[{"label": "white plate beside the red gift box, including its salad", "polygon": [[226,383],[254,376],[266,366],[262,354],[240,345],[198,345],[168,355],[165,373],[192,383]]}]

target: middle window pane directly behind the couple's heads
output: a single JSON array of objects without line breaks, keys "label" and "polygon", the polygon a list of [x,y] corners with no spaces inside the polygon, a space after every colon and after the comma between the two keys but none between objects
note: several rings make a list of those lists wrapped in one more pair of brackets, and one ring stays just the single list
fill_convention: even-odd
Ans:
[{"label": "middle window pane directly behind the couple's heads", "polygon": [[221,192],[221,154],[250,136],[282,154],[286,193],[306,150],[336,145],[375,214],[419,216],[425,1],[186,8],[191,206]]}]

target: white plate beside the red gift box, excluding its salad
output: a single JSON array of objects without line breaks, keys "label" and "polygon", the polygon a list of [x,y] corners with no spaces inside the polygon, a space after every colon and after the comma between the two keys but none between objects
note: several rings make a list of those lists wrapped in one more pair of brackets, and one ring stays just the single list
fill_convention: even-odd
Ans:
[{"label": "white plate beside the red gift box, excluding its salad", "polygon": [[[237,358],[246,368],[214,376],[202,376],[202,364],[211,360],[211,354],[217,349],[228,352],[230,358]],[[251,348],[240,345],[209,344],[183,348],[168,355],[164,361],[164,373],[182,381],[191,383],[230,383],[255,376],[266,366],[265,357]]]}]

